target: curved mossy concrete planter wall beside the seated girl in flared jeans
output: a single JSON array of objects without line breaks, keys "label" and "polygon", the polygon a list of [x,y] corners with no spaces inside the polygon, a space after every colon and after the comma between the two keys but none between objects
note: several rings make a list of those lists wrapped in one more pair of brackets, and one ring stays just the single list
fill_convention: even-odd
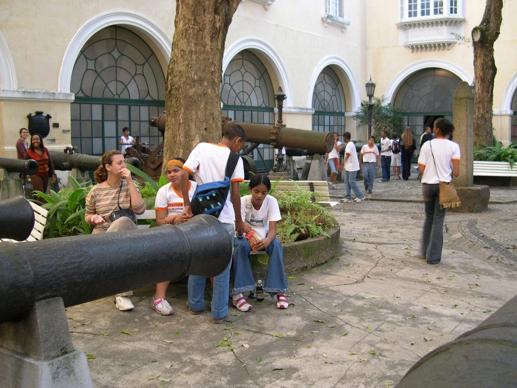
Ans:
[{"label": "curved mossy concrete planter wall beside the seated girl in flared jeans", "polygon": [[[336,225],[328,231],[330,238],[318,236],[283,245],[285,273],[295,274],[336,258],[340,249],[339,233],[339,225]],[[250,258],[255,279],[264,279],[267,265],[258,263],[254,255]]]}]

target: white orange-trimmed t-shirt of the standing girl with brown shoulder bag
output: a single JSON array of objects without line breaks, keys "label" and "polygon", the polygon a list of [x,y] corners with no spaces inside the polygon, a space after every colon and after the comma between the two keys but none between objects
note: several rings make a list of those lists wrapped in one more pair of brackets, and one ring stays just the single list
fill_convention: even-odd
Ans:
[{"label": "white orange-trimmed t-shirt of the standing girl with brown shoulder bag", "polygon": [[422,183],[434,185],[440,182],[452,181],[452,161],[459,160],[460,146],[458,143],[443,138],[423,143],[418,156],[418,165],[425,166],[422,174]]}]

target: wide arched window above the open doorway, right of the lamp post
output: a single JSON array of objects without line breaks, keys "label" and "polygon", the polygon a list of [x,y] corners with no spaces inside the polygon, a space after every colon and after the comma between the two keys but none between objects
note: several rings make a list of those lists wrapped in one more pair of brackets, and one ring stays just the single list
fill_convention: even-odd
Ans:
[{"label": "wide arched window above the open doorway, right of the lamp post", "polygon": [[452,98],[460,81],[452,72],[439,68],[420,70],[408,77],[393,100],[404,117],[401,130],[410,127],[418,143],[424,126],[432,128],[436,118],[452,121]]}]

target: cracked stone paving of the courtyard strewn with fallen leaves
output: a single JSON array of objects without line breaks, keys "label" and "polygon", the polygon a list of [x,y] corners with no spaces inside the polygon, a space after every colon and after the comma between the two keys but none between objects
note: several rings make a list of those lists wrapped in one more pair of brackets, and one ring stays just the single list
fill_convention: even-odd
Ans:
[{"label": "cracked stone paving of the courtyard strewn with fallen leaves", "polygon": [[[150,307],[154,288],[134,290],[135,309],[113,298],[67,309],[74,345],[88,354],[98,388],[383,387],[422,356],[473,329],[517,293],[517,190],[492,188],[487,212],[448,212],[442,262],[418,255],[421,187],[375,182],[366,201],[339,204],[339,257],[287,274],[291,305],[266,297],[231,307],[210,323],[209,300],[188,314],[186,281],[168,298],[175,314]],[[361,184],[361,182],[360,182]],[[344,196],[344,184],[331,196]],[[157,268],[159,270],[159,268]],[[124,334],[121,330],[131,333]]]}]

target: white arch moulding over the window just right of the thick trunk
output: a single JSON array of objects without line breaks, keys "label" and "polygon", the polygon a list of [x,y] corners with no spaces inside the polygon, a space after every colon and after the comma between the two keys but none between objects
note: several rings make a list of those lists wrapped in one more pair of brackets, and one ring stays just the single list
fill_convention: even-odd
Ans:
[{"label": "white arch moulding over the window just right of the thick trunk", "polygon": [[230,61],[232,61],[235,55],[240,53],[242,50],[249,49],[261,51],[270,59],[270,64],[273,66],[273,69],[275,70],[275,75],[279,80],[279,84],[282,87],[285,95],[287,96],[283,106],[292,107],[293,90],[291,88],[291,81],[289,80],[289,76],[287,75],[287,71],[285,70],[284,64],[280,60],[280,57],[277,55],[275,50],[273,50],[267,43],[253,38],[244,38],[233,43],[232,46],[225,50],[223,55],[223,74],[226,70],[226,67],[228,67]]}]

